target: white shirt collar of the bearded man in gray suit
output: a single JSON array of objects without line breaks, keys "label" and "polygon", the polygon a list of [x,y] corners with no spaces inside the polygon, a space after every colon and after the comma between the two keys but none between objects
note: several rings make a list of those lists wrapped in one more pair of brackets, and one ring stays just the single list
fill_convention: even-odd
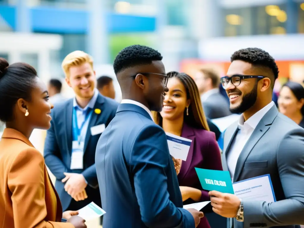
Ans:
[{"label": "white shirt collar of the bearded man in gray suit", "polygon": [[257,124],[261,121],[261,119],[265,116],[265,114],[275,105],[275,102],[270,102],[264,108],[260,109],[258,112],[254,113],[247,121],[244,122],[244,116],[241,115],[239,119],[239,129],[240,130],[248,130],[248,129],[255,129]]}]

